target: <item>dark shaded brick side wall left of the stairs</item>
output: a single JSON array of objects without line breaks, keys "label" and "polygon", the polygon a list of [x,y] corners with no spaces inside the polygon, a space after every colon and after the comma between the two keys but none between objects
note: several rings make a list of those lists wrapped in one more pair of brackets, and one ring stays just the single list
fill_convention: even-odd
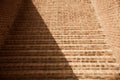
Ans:
[{"label": "dark shaded brick side wall left of the stairs", "polygon": [[22,0],[0,1],[0,46],[12,25]]}]

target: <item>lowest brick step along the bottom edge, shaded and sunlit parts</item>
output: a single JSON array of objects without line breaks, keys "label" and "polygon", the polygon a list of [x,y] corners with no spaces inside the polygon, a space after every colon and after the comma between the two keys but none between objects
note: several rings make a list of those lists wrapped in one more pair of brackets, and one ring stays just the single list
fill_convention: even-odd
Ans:
[{"label": "lowest brick step along the bottom edge, shaded and sunlit parts", "polygon": [[[8,73],[8,75],[6,76],[5,73],[0,74],[1,76],[5,76],[4,80],[9,80],[12,78],[12,80],[15,79],[21,79],[21,80],[110,80],[114,77],[113,74],[111,73],[102,73],[101,75],[81,75],[82,72],[80,74],[77,75],[77,79],[76,77],[74,77],[74,75],[72,75],[71,73],[68,72],[64,72],[64,73],[35,73],[35,71],[31,71],[34,73],[29,73],[30,71],[28,71],[28,73],[22,73],[22,71],[17,71],[17,74],[10,74],[10,71],[8,73],[8,71],[6,73]],[[39,71],[41,72],[41,71]],[[69,71],[70,72],[70,71]],[[18,73],[22,73],[22,74],[18,74]],[[69,75],[68,75],[69,74]],[[53,76],[54,75],[54,76]],[[22,78],[21,78],[22,76]],[[7,79],[6,79],[7,78]],[[9,79],[8,79],[9,78]],[[57,79],[58,78],[58,79]]]}]

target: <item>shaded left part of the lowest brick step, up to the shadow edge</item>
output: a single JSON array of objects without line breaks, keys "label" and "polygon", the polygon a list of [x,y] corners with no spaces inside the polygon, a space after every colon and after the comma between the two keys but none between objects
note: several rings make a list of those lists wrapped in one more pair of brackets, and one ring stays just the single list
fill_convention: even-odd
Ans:
[{"label": "shaded left part of the lowest brick step, up to the shadow edge", "polygon": [[[13,72],[10,74],[10,72]],[[35,73],[36,72],[36,73]],[[54,72],[54,73],[52,73]],[[2,74],[3,73],[3,74]],[[7,75],[6,75],[7,73]],[[10,77],[10,78],[15,78],[15,79],[21,79],[21,80],[33,80],[35,78],[39,79],[39,80],[48,80],[51,79],[71,79],[74,80],[74,73],[72,72],[72,70],[21,70],[21,71],[1,71],[0,72],[1,76],[6,76],[6,77]],[[54,75],[54,76],[53,76]]]}]

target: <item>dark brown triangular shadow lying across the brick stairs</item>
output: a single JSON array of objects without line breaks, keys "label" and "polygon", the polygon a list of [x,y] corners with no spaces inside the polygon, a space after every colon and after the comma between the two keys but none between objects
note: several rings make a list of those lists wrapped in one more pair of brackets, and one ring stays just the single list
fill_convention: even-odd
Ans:
[{"label": "dark brown triangular shadow lying across the brick stairs", "polygon": [[8,36],[0,57],[10,59],[0,60],[0,80],[78,80],[31,0],[23,0]]}]

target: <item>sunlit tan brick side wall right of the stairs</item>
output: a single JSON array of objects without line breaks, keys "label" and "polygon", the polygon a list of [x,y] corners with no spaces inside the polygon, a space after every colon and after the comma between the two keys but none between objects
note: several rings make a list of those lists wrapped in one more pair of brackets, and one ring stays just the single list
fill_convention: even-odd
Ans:
[{"label": "sunlit tan brick side wall right of the stairs", "polygon": [[91,0],[115,56],[120,58],[120,1]]}]

